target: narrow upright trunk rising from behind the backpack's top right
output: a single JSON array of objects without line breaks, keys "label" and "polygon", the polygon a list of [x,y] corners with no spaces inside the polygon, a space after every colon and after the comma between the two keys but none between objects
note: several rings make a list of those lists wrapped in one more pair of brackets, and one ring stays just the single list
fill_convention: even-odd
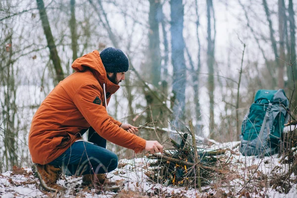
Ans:
[{"label": "narrow upright trunk rising from behind the backpack's top right", "polygon": [[[285,3],[284,0],[278,0],[279,10],[279,34],[280,34],[280,58],[285,61]],[[278,87],[284,89],[284,61],[279,61],[279,72],[278,72]]]}]

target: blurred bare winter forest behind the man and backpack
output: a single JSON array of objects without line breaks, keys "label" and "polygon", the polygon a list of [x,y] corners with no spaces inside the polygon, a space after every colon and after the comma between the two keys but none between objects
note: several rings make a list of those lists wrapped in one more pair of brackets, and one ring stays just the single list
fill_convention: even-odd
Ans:
[{"label": "blurred bare winter forest behind the man and backpack", "polygon": [[157,121],[146,139],[193,120],[198,136],[237,141],[258,89],[284,89],[295,116],[296,10],[293,0],[0,0],[0,172],[30,166],[35,111],[95,49],[127,54],[109,114]]}]

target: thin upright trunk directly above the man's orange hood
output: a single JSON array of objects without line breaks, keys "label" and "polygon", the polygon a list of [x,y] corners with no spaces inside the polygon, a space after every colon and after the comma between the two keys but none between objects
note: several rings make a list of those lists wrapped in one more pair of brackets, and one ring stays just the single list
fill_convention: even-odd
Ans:
[{"label": "thin upright trunk directly above the man's orange hood", "polygon": [[69,21],[71,31],[72,61],[77,59],[77,34],[75,19],[75,0],[70,0],[71,18]]}]

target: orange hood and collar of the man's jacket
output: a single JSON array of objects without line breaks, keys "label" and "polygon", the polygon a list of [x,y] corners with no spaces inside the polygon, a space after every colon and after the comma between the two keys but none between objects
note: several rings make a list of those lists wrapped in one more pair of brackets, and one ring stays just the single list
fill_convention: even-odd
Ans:
[{"label": "orange hood and collar of the man's jacket", "polygon": [[97,78],[102,89],[103,84],[105,83],[106,92],[110,93],[110,95],[114,94],[120,88],[119,85],[116,85],[108,80],[107,73],[103,66],[98,50],[94,50],[91,53],[87,53],[84,56],[77,58],[72,63],[72,68],[77,72],[83,72],[87,69],[90,69]]}]

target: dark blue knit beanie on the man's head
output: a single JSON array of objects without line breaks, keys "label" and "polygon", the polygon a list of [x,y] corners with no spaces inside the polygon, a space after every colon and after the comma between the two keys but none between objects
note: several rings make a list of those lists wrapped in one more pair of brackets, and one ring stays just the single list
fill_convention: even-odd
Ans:
[{"label": "dark blue knit beanie on the man's head", "polygon": [[126,72],[129,69],[128,58],[121,49],[103,49],[100,53],[100,57],[106,72],[120,73]]}]

